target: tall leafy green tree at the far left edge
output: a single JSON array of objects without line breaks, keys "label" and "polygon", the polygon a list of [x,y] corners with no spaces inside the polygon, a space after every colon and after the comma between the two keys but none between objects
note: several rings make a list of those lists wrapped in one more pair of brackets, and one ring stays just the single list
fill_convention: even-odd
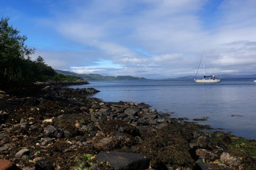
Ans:
[{"label": "tall leafy green tree at the far left edge", "polygon": [[27,47],[27,37],[19,35],[8,21],[0,20],[0,85],[31,83],[37,79],[37,68],[29,57],[35,49]]}]

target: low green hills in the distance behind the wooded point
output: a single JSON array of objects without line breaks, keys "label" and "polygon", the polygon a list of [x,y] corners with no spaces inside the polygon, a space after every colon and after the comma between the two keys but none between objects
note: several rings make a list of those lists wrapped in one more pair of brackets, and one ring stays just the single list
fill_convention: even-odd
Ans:
[{"label": "low green hills in the distance behind the wooded point", "polygon": [[95,81],[95,80],[141,80],[146,79],[144,77],[134,77],[134,76],[101,76],[99,74],[79,74],[70,71],[63,71],[63,70],[55,70],[59,74],[69,75],[69,76],[76,76],[80,77],[83,80],[87,81]]}]

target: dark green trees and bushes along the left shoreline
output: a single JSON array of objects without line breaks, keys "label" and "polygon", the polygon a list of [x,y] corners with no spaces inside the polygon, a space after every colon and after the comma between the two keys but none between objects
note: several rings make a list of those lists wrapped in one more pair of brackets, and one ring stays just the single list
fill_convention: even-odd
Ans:
[{"label": "dark green trees and bushes along the left shoreline", "polygon": [[12,25],[9,18],[0,20],[0,87],[25,87],[40,81],[69,81],[76,82],[79,77],[57,74],[38,56],[31,59],[34,48],[25,44],[27,36],[19,35],[19,31]]}]

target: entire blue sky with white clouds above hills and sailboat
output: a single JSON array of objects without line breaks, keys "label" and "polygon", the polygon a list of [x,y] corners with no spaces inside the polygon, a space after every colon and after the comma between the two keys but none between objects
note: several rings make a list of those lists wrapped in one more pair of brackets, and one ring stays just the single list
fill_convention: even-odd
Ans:
[{"label": "entire blue sky with white clouds above hills and sailboat", "polygon": [[[256,74],[256,0],[1,0],[55,69],[172,78]],[[202,69],[199,70],[199,75]]]}]

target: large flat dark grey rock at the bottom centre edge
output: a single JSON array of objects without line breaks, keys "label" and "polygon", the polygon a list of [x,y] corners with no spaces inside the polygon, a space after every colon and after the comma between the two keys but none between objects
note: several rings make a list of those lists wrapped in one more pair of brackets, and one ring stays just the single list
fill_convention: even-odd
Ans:
[{"label": "large flat dark grey rock at the bottom centre edge", "polygon": [[140,153],[101,152],[97,154],[97,161],[109,162],[114,170],[146,170],[150,159]]}]

